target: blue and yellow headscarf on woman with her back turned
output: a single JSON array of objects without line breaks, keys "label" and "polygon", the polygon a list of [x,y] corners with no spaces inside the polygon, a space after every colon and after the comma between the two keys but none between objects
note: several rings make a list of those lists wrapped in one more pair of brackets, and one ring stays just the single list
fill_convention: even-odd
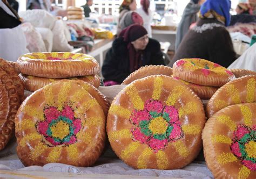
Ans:
[{"label": "blue and yellow headscarf on woman with her back turned", "polygon": [[206,2],[201,5],[199,11],[199,17],[204,18],[216,18],[221,23],[228,26],[230,24],[230,0],[206,0]]}]

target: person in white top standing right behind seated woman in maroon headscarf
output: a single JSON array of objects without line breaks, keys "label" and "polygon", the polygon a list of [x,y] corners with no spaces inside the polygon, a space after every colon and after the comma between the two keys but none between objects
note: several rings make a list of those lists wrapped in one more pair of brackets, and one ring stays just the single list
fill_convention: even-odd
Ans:
[{"label": "person in white top standing right behind seated woman in maroon headscarf", "polygon": [[152,11],[150,10],[150,0],[140,0],[141,7],[136,10],[143,18],[143,26],[146,28],[149,37],[152,37],[151,22],[153,20]]}]

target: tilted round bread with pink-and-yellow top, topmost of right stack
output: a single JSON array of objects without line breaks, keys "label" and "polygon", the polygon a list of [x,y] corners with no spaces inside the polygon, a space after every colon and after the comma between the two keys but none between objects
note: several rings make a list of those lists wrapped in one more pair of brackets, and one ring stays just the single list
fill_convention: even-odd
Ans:
[{"label": "tilted round bread with pink-and-yellow top, topmost of right stack", "polygon": [[173,74],[181,80],[210,87],[221,87],[235,78],[226,68],[203,59],[178,60],[173,65]]}]

